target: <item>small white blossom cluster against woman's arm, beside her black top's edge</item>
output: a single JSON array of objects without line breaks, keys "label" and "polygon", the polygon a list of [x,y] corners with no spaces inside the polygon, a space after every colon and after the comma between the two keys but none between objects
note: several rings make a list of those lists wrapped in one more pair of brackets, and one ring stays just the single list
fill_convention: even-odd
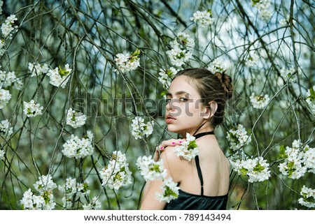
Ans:
[{"label": "small white blossom cluster against woman's arm, beside her black top's edge", "polygon": [[163,180],[163,184],[160,186],[162,188],[161,193],[156,193],[156,198],[162,202],[169,203],[171,200],[176,199],[179,197],[179,187],[177,184],[172,180],[172,177]]}]

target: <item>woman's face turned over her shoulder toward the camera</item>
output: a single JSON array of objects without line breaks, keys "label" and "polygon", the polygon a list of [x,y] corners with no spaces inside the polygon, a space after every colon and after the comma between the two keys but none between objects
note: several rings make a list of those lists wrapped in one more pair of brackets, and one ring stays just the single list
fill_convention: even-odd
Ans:
[{"label": "woman's face turned over her shoulder toward the camera", "polygon": [[[167,93],[167,128],[182,137],[186,137],[186,133],[193,135],[209,117],[207,107],[202,103],[197,89],[188,82],[189,79],[185,75],[176,77]],[[205,124],[198,132],[207,131],[205,129],[209,129],[209,125]]]}]

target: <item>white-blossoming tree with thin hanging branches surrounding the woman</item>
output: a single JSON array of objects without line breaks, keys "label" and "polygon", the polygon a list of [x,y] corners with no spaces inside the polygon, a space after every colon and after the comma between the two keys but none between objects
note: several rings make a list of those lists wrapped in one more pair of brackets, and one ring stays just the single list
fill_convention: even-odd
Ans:
[{"label": "white-blossoming tree with thin hanging branches surrounding the woman", "polygon": [[[228,209],[315,207],[310,1],[0,1],[0,209],[137,209],[177,197],[155,147],[178,70],[227,70]],[[193,136],[175,153],[198,154]],[[127,199],[127,200],[126,200]]]}]

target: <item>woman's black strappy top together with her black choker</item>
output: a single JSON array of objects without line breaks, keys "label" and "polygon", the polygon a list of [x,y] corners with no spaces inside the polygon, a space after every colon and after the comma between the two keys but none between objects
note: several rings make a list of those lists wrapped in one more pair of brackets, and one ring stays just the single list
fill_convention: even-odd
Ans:
[{"label": "woman's black strappy top together with her black choker", "polygon": [[[213,131],[198,133],[195,138],[204,135],[214,135]],[[204,195],[204,179],[200,168],[199,156],[195,157],[198,177],[200,179],[201,194],[195,195],[179,189],[179,197],[167,203],[164,210],[224,210],[228,202],[228,194],[222,196]]]}]

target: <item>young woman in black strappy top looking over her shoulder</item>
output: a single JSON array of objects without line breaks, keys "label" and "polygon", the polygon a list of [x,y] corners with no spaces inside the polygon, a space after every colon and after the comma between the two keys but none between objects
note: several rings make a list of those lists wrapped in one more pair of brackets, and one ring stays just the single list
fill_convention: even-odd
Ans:
[{"label": "young woman in black strappy top looking over her shoulder", "polygon": [[[164,161],[167,178],[180,188],[179,197],[169,203],[156,199],[162,180],[148,181],[141,209],[226,209],[230,164],[218,145],[214,128],[223,122],[225,103],[232,96],[231,77],[203,68],[179,71],[167,94],[165,120],[170,132],[183,139],[165,140],[155,151],[155,160]],[[195,136],[199,156],[185,160],[174,147]]]}]

